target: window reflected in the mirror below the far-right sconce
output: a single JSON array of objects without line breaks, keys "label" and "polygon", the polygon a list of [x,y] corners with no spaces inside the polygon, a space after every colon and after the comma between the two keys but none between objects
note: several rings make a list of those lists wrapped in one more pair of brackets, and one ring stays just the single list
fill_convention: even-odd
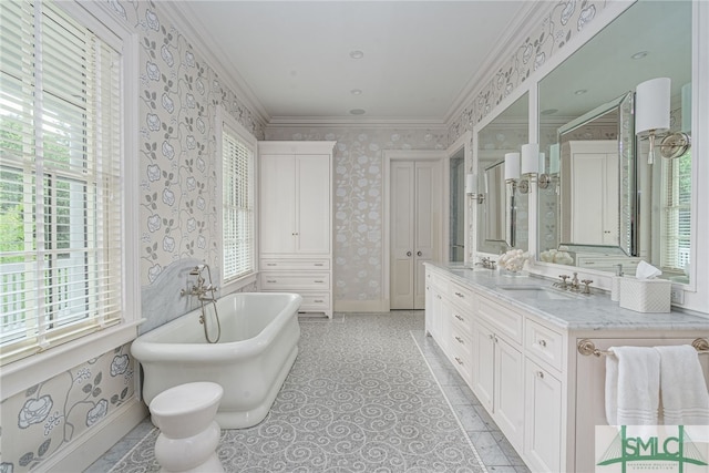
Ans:
[{"label": "window reflected in the mirror below the far-right sconce", "polygon": [[662,270],[682,271],[690,260],[691,152],[662,160],[661,254]]}]

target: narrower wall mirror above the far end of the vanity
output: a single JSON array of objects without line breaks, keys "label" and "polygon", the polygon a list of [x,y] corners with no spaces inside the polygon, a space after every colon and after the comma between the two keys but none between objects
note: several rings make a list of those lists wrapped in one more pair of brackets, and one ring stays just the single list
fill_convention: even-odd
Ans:
[{"label": "narrower wall mirror above the far end of the vanity", "polygon": [[528,249],[528,194],[505,183],[505,153],[528,143],[528,94],[524,93],[477,132],[477,251],[501,254]]}]

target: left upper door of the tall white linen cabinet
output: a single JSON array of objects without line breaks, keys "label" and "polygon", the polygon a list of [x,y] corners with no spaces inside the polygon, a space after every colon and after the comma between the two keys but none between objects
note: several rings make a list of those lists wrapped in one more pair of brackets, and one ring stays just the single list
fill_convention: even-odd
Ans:
[{"label": "left upper door of the tall white linen cabinet", "polygon": [[263,154],[259,161],[260,251],[292,253],[296,249],[294,156]]}]

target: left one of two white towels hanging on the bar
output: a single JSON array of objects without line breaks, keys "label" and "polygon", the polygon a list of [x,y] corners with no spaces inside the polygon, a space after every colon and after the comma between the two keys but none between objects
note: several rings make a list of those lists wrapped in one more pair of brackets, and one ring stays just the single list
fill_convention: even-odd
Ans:
[{"label": "left one of two white towels hanging on the bar", "polygon": [[660,353],[651,347],[613,347],[606,357],[608,425],[657,425]]}]

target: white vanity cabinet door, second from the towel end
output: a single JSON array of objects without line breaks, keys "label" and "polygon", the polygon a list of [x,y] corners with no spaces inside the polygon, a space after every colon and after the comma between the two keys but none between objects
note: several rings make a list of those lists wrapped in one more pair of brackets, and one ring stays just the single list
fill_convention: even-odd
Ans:
[{"label": "white vanity cabinet door, second from the towel end", "polygon": [[524,364],[520,350],[495,336],[493,418],[510,443],[522,448],[524,429]]}]

